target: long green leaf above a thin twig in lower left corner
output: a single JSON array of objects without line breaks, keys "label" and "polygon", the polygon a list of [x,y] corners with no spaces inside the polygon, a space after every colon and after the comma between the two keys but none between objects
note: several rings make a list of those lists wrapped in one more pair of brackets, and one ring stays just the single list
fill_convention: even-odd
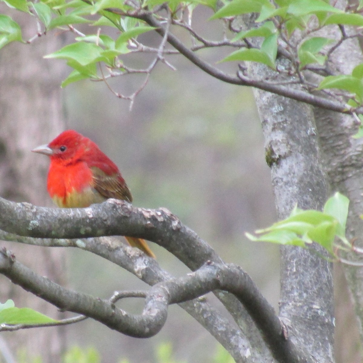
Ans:
[{"label": "long green leaf above a thin twig in lower left corner", "polygon": [[56,323],[57,320],[47,317],[44,314],[38,313],[28,307],[9,307],[0,311],[0,324],[44,324],[44,323]]}]

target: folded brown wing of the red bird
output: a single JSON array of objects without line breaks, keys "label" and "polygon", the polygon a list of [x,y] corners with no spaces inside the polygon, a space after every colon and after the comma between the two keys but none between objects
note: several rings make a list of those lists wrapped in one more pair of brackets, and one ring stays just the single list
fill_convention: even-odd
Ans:
[{"label": "folded brown wing of the red bird", "polygon": [[132,202],[132,196],[120,174],[107,175],[97,167],[91,167],[94,188],[105,198],[115,198]]}]

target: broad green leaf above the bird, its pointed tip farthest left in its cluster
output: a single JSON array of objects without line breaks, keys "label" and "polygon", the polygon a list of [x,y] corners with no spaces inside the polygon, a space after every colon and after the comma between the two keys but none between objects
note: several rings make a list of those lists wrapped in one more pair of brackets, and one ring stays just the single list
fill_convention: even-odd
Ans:
[{"label": "broad green leaf above the bird, its pointed tip farthest left in its cluster", "polygon": [[92,43],[78,42],[66,45],[60,50],[52,54],[48,54],[44,58],[66,59],[68,61],[76,61],[81,66],[98,62],[103,49]]}]

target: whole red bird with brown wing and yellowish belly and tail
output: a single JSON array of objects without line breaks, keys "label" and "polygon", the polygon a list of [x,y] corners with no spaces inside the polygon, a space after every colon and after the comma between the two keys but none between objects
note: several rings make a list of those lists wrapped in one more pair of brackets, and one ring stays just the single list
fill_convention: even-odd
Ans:
[{"label": "whole red bird with brown wing and yellowish belly and tail", "polygon": [[[74,130],[58,135],[48,145],[32,150],[48,155],[47,189],[61,208],[85,208],[108,198],[127,200],[132,196],[116,164],[90,139]],[[146,241],[125,237],[133,247],[154,257]]]}]

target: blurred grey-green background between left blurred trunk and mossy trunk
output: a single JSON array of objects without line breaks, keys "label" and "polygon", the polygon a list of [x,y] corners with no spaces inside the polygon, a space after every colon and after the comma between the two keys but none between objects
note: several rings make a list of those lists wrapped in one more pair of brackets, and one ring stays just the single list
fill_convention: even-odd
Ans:
[{"label": "blurred grey-green background between left blurred trunk and mossy trunk", "polygon": [[[146,37],[155,46],[160,41],[156,35]],[[204,52],[203,57],[215,62],[221,55]],[[150,54],[131,55],[125,62],[138,68],[150,59]],[[102,83],[66,87],[68,128],[93,139],[118,165],[135,205],[170,209],[224,261],[241,265],[277,307],[278,248],[244,236],[276,220],[252,90],[213,79],[182,57],[168,60],[177,71],[160,62],[131,111],[128,101],[117,99]],[[115,91],[131,94],[143,77],[111,81]],[[188,272],[165,250],[152,243],[151,248],[164,269],[177,276]],[[147,288],[110,262],[76,249],[69,251],[69,278],[70,287],[101,298],[114,290]],[[208,299],[224,311],[213,295]],[[120,306],[137,312],[142,299]],[[102,362],[121,357],[152,362],[154,347],[164,341],[173,343],[177,359],[210,362],[217,344],[178,306],[170,308],[166,326],[151,339],[125,337],[90,319],[70,331],[72,344],[97,348]]]}]

